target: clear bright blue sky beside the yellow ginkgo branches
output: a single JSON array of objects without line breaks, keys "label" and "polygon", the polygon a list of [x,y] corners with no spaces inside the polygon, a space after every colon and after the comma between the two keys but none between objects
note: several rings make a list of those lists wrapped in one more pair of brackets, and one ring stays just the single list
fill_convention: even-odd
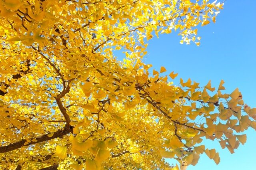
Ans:
[{"label": "clear bright blue sky beside the yellow ginkgo branches", "polygon": [[[218,87],[220,80],[225,81],[226,93],[236,87],[242,92],[243,99],[250,107],[256,107],[256,0],[226,0],[224,9],[216,18],[216,24],[210,23],[198,27],[202,37],[201,45],[180,44],[177,32],[162,34],[148,42],[146,63],[153,68],[160,66],[166,73],[179,73],[174,84],[181,77],[204,86],[212,80],[212,86]],[[216,166],[206,154],[202,154],[196,166],[187,170],[254,170],[256,160],[256,131],[252,128],[245,131],[246,144],[238,147],[234,154],[222,150],[218,142],[204,141],[209,149],[216,148],[220,154],[220,164]]]}]

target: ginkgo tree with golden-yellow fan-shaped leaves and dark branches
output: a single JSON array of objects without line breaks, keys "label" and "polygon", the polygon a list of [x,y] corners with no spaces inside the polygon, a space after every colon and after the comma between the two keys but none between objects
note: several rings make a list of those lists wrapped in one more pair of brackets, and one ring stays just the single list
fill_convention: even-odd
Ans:
[{"label": "ginkgo tree with golden-yellow fan-shaped leaves and dark branches", "polygon": [[151,72],[142,58],[159,33],[175,30],[180,43],[199,45],[197,26],[215,22],[222,6],[1,0],[0,168],[184,169],[203,153],[218,164],[204,139],[233,153],[246,142],[241,132],[256,129],[256,108],[238,89],[224,93],[224,81],[216,89],[190,79],[172,85],[177,73]]}]

